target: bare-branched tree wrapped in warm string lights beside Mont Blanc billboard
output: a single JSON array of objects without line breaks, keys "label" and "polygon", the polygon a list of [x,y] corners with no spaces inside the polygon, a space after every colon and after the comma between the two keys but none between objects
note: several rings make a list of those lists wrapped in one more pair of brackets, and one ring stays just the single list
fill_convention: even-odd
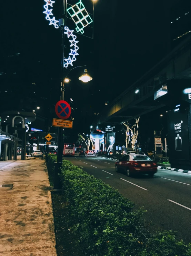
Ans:
[{"label": "bare-branched tree wrapped in warm string lights beside Mont Blanc billboard", "polygon": [[131,143],[131,148],[134,149],[135,147],[135,143],[137,142],[137,137],[138,137],[138,129],[139,129],[139,119],[140,116],[138,118],[135,118],[135,124],[131,125],[130,122],[125,122],[123,123],[124,126],[126,127],[126,148],[128,148],[128,144],[129,141]]}]

